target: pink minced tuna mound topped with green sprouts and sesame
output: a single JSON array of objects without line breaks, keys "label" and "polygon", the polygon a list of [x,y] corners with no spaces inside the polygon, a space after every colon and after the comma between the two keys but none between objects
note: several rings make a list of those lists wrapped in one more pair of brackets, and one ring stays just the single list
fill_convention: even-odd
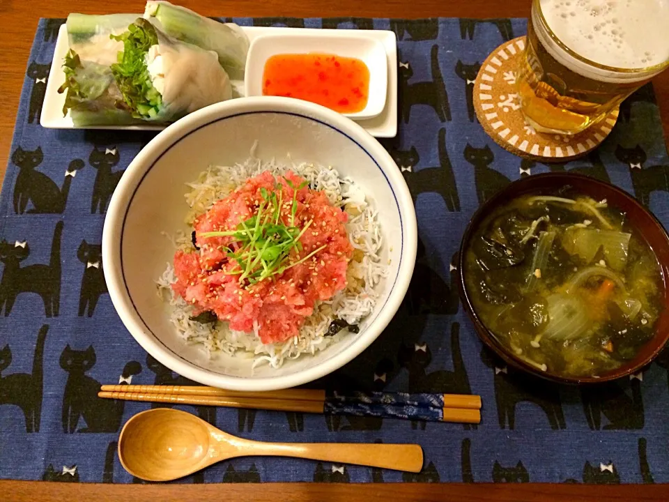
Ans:
[{"label": "pink minced tuna mound topped with green sprouts and sesame", "polygon": [[284,342],[346,287],[353,247],[346,211],[305,178],[266,171],[194,221],[195,245],[174,255],[176,294],[263,344]]}]

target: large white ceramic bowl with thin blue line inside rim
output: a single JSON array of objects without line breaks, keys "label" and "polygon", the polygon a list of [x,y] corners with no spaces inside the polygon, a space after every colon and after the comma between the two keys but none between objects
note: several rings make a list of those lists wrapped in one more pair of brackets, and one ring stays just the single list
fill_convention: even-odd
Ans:
[{"label": "large white ceramic bowl with thin blue line inside rim", "polygon": [[[209,165],[234,165],[256,156],[279,162],[318,162],[351,176],[376,201],[390,260],[376,287],[376,308],[348,335],[314,356],[285,360],[278,369],[252,369],[250,354],[209,358],[188,344],[169,321],[170,305],[155,281],[174,248],[162,232],[190,231],[184,223],[185,183]],[[290,155],[290,160],[287,155]],[[406,294],[416,257],[413,201],[397,165],[362,127],[325,107],[291,98],[243,98],[201,109],[160,132],[126,169],[109,204],[102,260],[114,307],[135,340],[160,363],[204,385],[262,391],[298,386],[323,377],[374,342]]]}]

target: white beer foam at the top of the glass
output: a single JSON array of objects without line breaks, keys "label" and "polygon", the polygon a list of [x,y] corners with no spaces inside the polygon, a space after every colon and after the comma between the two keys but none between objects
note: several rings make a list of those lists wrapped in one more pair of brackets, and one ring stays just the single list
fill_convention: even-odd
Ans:
[{"label": "white beer foam at the top of the glass", "polygon": [[[540,0],[539,3],[555,36],[585,59],[624,69],[649,68],[669,61],[669,0]],[[536,13],[532,14],[534,20]],[[586,68],[560,50],[541,33],[537,22],[533,24],[541,43],[560,62],[587,77],[597,78],[593,73],[601,73],[593,72],[592,67]],[[605,75],[599,77],[609,79]],[[608,77],[617,80],[613,75]],[[643,78],[647,76],[640,79]]]}]

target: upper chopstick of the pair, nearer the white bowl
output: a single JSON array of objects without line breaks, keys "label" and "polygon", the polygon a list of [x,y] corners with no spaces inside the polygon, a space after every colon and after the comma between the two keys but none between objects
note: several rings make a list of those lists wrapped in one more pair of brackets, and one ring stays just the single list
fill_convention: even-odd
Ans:
[{"label": "upper chopstick of the pair, nearer the white bowl", "polygon": [[481,396],[468,394],[405,394],[383,392],[339,392],[325,390],[290,388],[269,392],[248,392],[224,390],[207,386],[158,386],[158,385],[103,385],[103,392],[169,394],[238,398],[248,397],[261,400],[337,401],[366,402],[393,405],[433,406],[438,408],[481,409]]}]

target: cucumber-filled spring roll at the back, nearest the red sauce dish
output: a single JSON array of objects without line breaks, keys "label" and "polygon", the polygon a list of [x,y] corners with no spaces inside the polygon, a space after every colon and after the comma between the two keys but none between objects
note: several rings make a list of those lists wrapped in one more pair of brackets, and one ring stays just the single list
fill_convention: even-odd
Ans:
[{"label": "cucumber-filled spring roll at the back, nearest the red sauce dish", "polygon": [[168,1],[147,1],[144,18],[167,35],[218,54],[231,79],[243,79],[249,38],[234,23],[220,23]]}]

